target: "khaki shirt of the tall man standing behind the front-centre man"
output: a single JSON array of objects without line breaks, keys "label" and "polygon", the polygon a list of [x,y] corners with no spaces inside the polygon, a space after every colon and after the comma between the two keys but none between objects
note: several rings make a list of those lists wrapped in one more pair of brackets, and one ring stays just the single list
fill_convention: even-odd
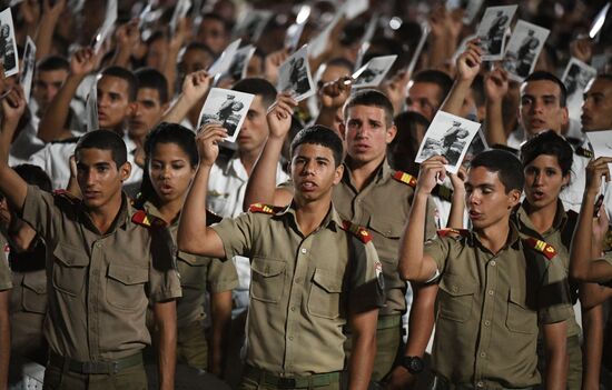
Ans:
[{"label": "khaki shirt of the tall man standing behind the front-centre man", "polygon": [[[353,184],[348,167],[334,188],[334,206],[344,219],[366,227],[383,263],[387,301],[381,316],[402,314],[406,310],[406,282],[397,272],[399,238],[404,232],[414,196],[414,189],[393,178],[395,173],[385,160],[374,179],[359,192]],[[425,237],[435,234],[434,206],[428,202]]]}]

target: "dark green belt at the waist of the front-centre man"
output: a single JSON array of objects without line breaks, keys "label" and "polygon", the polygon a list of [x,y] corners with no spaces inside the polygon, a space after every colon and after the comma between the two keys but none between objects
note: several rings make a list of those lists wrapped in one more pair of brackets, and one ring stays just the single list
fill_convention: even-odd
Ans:
[{"label": "dark green belt at the waist of the front-centre man", "polygon": [[245,367],[245,377],[260,384],[272,386],[277,389],[318,388],[329,386],[335,382],[339,383],[340,381],[340,373],[338,371],[313,373],[312,376],[306,377],[282,378],[272,372],[260,370],[248,364]]}]

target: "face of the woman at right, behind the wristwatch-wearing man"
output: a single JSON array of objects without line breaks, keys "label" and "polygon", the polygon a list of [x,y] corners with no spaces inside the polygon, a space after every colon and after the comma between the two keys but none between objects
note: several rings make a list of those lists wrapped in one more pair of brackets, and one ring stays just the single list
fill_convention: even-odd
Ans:
[{"label": "face of the woman at right, behind the wristwatch-wearing man", "polygon": [[543,208],[556,203],[559,194],[570,180],[563,176],[556,156],[540,154],[524,168],[525,196],[531,206]]}]

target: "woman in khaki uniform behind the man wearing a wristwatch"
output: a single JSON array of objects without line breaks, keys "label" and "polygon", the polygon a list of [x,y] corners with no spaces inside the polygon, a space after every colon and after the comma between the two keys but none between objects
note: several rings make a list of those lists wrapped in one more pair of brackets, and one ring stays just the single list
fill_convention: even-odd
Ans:
[{"label": "woman in khaki uniform behind the man wearing a wristwatch", "polygon": [[[575,213],[567,213],[559,194],[570,182],[573,160],[572,147],[554,131],[543,132],[521,148],[525,173],[525,200],[517,211],[517,224],[525,232],[553,246],[562,259],[565,272],[570,268],[570,240],[575,224]],[[575,172],[580,174],[580,172]],[[573,223],[572,223],[573,222]],[[578,300],[579,284],[570,280],[572,301]],[[581,284],[583,290],[586,286]],[[582,351],[580,327],[575,317],[567,321],[567,389],[582,384]],[[539,348],[540,370],[544,371],[543,351]]]}]

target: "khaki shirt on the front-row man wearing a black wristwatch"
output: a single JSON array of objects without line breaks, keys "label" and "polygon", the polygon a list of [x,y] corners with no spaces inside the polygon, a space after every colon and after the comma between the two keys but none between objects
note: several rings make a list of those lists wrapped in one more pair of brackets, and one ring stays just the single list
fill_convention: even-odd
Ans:
[{"label": "khaki shirt on the front-row man wearing a black wristwatch", "polygon": [[562,261],[523,249],[514,224],[497,254],[474,232],[465,232],[425,244],[441,272],[434,370],[453,383],[476,388],[537,384],[539,321],[573,316]]}]

